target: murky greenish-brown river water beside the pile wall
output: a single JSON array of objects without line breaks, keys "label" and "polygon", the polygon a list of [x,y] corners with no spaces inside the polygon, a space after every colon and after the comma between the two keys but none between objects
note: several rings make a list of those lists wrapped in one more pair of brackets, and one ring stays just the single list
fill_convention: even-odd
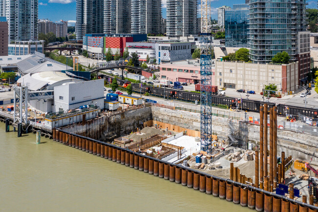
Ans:
[{"label": "murky greenish-brown river water beside the pile wall", "polygon": [[0,123],[0,212],[249,209]]}]

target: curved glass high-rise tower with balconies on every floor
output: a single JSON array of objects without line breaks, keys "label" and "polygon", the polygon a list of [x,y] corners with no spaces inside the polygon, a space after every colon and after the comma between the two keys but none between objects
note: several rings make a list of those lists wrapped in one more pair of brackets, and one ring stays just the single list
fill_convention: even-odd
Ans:
[{"label": "curved glass high-rise tower with balconies on every floor", "polygon": [[297,60],[298,32],[306,31],[306,0],[250,0],[250,59],[268,63],[286,51]]}]

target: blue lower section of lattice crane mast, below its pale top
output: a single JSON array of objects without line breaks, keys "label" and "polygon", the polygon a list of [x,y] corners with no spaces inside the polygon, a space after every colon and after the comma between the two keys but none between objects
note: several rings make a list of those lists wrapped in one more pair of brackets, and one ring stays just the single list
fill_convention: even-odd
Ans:
[{"label": "blue lower section of lattice crane mast, below its pale top", "polygon": [[201,33],[201,150],[211,152],[212,116],[211,116],[211,33]]}]

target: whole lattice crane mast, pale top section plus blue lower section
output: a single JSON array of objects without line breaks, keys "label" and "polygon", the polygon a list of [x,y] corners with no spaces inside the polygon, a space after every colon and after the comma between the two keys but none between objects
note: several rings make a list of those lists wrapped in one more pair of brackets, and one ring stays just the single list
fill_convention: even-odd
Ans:
[{"label": "whole lattice crane mast, pale top section plus blue lower section", "polygon": [[211,1],[201,0],[201,150],[205,152],[212,151],[212,35],[210,13]]}]

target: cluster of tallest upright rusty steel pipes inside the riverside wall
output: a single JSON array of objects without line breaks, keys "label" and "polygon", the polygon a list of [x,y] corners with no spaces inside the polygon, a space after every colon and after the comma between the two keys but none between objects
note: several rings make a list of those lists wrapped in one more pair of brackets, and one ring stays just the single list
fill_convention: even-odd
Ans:
[{"label": "cluster of tallest upright rusty steel pipes inside the riverside wall", "polygon": [[[255,186],[265,189],[267,191],[273,191],[273,188],[277,187],[277,108],[274,106],[270,108],[270,148],[268,149],[268,105],[260,106],[260,148],[258,157],[258,151],[255,152],[257,156],[255,160],[259,158],[259,163],[255,162]],[[268,172],[268,152],[270,155],[270,170]],[[260,166],[260,170],[259,170]],[[260,178],[259,178],[260,174]],[[260,182],[258,182],[260,179]],[[264,186],[264,180],[266,186]]]}]

